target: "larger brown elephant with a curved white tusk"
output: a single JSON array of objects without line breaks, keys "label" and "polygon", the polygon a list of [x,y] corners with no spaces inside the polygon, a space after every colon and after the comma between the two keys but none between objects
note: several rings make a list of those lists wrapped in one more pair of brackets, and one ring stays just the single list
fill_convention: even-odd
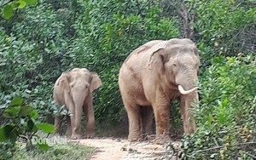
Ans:
[{"label": "larger brown elephant with a curved white tusk", "polygon": [[[169,139],[171,100],[180,99],[184,134],[195,131],[195,118],[189,113],[198,103],[195,80],[199,55],[189,39],[154,40],[135,49],[119,70],[119,89],[129,118],[130,141],[147,132],[152,106],[156,138]],[[148,109],[147,109],[148,107]]]}]

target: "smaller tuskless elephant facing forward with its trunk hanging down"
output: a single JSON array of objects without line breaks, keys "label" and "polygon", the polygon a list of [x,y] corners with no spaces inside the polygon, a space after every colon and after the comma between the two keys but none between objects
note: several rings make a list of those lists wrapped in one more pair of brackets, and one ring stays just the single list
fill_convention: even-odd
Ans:
[{"label": "smaller tuskless elephant facing forward with its trunk hanging down", "polygon": [[[86,118],[86,137],[94,135],[95,115],[92,105],[92,91],[102,85],[96,72],[90,72],[86,68],[74,68],[72,71],[64,71],[54,86],[54,100],[56,105],[65,105],[72,112],[67,117],[67,136],[72,139],[81,138],[81,116],[84,111]],[[55,133],[60,133],[62,116],[55,117]]]}]

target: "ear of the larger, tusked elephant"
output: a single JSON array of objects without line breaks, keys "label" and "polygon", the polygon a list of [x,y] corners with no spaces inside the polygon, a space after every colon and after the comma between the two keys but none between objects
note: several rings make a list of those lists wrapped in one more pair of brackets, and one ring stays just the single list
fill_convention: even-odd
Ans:
[{"label": "ear of the larger, tusked elephant", "polygon": [[164,55],[163,49],[166,49],[168,41],[162,41],[158,44],[155,44],[151,49],[148,49],[148,52],[150,53],[150,57],[148,60],[148,68],[150,70],[156,69],[157,71],[160,71],[161,74],[164,74],[165,72],[165,61],[164,61]]}]

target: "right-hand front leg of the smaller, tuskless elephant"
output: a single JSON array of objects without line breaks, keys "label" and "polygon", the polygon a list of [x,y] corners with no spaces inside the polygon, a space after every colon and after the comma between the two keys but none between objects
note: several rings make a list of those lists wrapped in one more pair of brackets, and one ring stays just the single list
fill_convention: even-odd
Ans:
[{"label": "right-hand front leg of the smaller, tuskless elephant", "polygon": [[94,136],[94,128],[95,128],[95,115],[92,106],[92,98],[88,97],[84,102],[84,115],[86,118],[86,138],[91,138]]}]

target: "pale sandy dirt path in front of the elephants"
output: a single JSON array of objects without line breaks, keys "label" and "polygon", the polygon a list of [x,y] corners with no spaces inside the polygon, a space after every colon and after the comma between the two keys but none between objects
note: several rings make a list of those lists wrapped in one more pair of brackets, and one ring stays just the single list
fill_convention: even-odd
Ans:
[{"label": "pale sandy dirt path in front of the elephants", "polygon": [[[165,158],[166,147],[148,142],[131,143],[123,139],[86,139],[79,140],[85,146],[96,148],[95,155],[91,160],[154,160],[176,159]],[[179,142],[173,142],[179,146]]]}]

